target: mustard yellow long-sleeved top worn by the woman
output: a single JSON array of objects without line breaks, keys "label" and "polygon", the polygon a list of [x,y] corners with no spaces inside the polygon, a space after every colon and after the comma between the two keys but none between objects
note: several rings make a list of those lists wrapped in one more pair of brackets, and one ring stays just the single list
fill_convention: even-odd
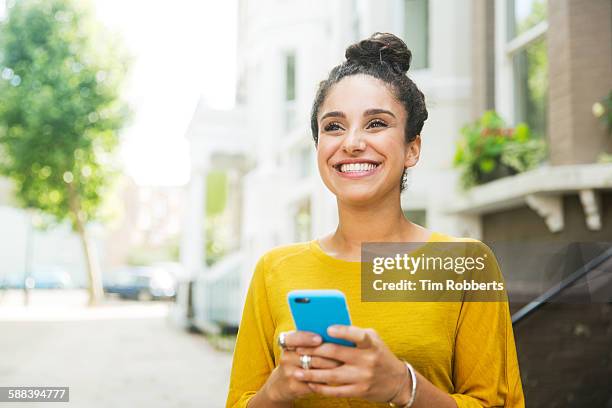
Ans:
[{"label": "mustard yellow long-sleeved top worn by the woman", "polygon": [[[458,240],[475,241],[434,232],[429,242]],[[287,293],[294,289],[344,292],[352,324],[374,328],[396,356],[449,393],[459,408],[525,406],[506,302],[361,302],[360,263],[333,258],[314,240],[275,248],[257,263],[238,330],[226,407],[246,407],[277,365],[275,340],[280,332],[295,329],[287,303]],[[311,394],[293,406],[388,404]]]}]

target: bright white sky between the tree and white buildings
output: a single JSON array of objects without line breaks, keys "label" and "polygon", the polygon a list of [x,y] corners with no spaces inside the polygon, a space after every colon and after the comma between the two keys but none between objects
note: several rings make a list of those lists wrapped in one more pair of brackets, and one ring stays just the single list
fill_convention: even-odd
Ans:
[{"label": "bright white sky between the tree and white buildings", "polygon": [[139,185],[189,180],[185,132],[200,97],[231,108],[236,78],[236,0],[95,0],[133,58],[125,97],[124,168]]}]

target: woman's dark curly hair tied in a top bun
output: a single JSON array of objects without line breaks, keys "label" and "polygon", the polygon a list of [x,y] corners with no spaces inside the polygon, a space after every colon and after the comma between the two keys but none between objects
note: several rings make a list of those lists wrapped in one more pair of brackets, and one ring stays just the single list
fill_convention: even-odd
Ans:
[{"label": "woman's dark curly hair tied in a top bun", "polygon": [[[342,78],[365,74],[385,82],[406,109],[404,135],[407,143],[421,133],[427,119],[425,96],[406,73],[410,69],[412,53],[406,43],[390,33],[374,33],[369,38],[350,45],[345,52],[346,61],[335,66],[327,79],[319,83],[310,115],[310,129],[315,145],[319,142],[319,108],[329,90]],[[405,188],[406,171],[401,189]]]}]

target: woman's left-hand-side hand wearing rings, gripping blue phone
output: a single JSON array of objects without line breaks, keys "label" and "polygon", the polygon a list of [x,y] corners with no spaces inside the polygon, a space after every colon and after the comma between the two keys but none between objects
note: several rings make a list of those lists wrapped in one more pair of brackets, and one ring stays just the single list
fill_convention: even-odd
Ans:
[{"label": "woman's left-hand-side hand wearing rings, gripping blue phone", "polygon": [[[317,347],[321,345],[321,342],[321,336],[315,333],[305,331],[286,333],[286,349],[281,354],[279,365],[272,371],[264,385],[264,394],[270,401],[290,402],[313,392],[308,384],[296,375],[298,371],[305,371],[302,369],[300,354],[296,352],[296,348]],[[312,357],[310,361],[312,369],[331,369],[340,365],[339,361],[322,356]]]}]

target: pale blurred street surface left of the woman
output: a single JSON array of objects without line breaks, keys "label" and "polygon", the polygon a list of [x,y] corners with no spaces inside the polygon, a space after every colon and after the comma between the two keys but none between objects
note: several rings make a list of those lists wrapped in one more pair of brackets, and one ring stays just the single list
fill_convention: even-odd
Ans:
[{"label": "pale blurred street surface left of the woman", "polygon": [[[52,299],[0,299],[0,386],[70,387],[58,406],[224,406],[231,354],[174,327],[169,305]],[[0,402],[9,406],[48,403]]]}]

